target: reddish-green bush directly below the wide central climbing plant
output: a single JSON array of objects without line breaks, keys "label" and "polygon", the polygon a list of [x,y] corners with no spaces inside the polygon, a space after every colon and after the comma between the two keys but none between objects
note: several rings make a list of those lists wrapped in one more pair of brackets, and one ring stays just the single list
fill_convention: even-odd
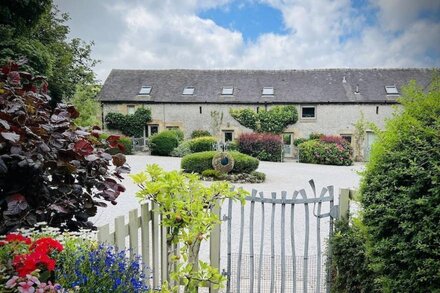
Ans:
[{"label": "reddish-green bush directly below the wide central climbing plant", "polygon": [[269,133],[243,133],[237,140],[238,150],[262,161],[281,161],[281,136]]}]

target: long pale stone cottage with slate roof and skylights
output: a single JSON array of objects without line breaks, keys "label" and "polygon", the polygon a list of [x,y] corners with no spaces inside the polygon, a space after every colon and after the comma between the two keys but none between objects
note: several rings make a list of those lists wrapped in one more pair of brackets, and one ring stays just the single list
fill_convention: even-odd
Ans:
[{"label": "long pale stone cottage with slate roof and skylights", "polygon": [[[285,130],[286,156],[293,139],[318,132],[352,141],[363,115],[379,128],[392,115],[402,86],[411,80],[427,86],[428,69],[322,70],[119,70],[111,71],[98,96],[102,119],[110,112],[131,114],[149,107],[145,136],[179,128],[188,137],[208,130],[223,141],[250,132],[229,114],[230,108],[255,111],[295,105],[298,122]],[[368,156],[374,134],[367,131]]]}]

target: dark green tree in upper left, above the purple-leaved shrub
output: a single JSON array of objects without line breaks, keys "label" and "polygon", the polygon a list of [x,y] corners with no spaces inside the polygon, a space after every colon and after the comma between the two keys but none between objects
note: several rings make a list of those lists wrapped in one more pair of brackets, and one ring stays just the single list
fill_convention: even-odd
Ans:
[{"label": "dark green tree in upper left, above the purple-leaved shrub", "polygon": [[0,16],[0,63],[26,58],[26,71],[47,77],[52,106],[71,98],[77,84],[94,82],[93,43],[68,39],[69,16],[52,0],[4,1]]}]

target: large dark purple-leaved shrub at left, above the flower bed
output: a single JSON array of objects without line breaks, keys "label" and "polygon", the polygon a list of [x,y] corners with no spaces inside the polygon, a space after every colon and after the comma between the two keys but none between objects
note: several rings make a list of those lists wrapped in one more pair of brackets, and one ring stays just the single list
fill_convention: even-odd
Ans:
[{"label": "large dark purple-leaved shrub at left, above the flower bed", "polygon": [[0,72],[0,234],[41,221],[92,228],[97,207],[124,191],[116,180],[128,172],[125,157],[104,151],[118,137],[101,142],[99,129],[76,128],[76,109],[52,111],[47,82],[18,70],[10,63]]}]

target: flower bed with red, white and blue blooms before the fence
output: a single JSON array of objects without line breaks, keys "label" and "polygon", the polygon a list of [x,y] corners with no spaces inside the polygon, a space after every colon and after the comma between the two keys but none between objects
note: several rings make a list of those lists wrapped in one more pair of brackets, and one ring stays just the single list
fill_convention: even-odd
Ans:
[{"label": "flower bed with red, white and blue blooms before the fence", "polygon": [[[23,230],[25,231],[25,230]],[[145,292],[139,257],[92,240],[90,233],[26,230],[0,240],[0,292]]]}]

